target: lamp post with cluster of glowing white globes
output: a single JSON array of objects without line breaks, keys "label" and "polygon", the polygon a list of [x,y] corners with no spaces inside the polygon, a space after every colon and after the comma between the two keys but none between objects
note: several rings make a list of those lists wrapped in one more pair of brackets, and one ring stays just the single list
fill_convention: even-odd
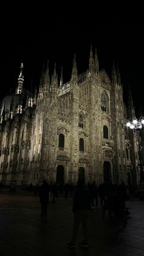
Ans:
[{"label": "lamp post with cluster of glowing white globes", "polygon": [[140,119],[137,119],[136,117],[134,117],[133,119],[129,119],[128,122],[126,123],[126,126],[128,126],[131,130],[136,130],[137,135],[139,136],[139,161],[140,161],[140,163],[137,164],[137,166],[140,166],[140,181],[144,181],[144,172],[143,172],[144,163],[142,161],[142,146],[140,145],[142,142],[142,134],[140,135],[140,131],[144,127],[144,117],[141,116]]}]

